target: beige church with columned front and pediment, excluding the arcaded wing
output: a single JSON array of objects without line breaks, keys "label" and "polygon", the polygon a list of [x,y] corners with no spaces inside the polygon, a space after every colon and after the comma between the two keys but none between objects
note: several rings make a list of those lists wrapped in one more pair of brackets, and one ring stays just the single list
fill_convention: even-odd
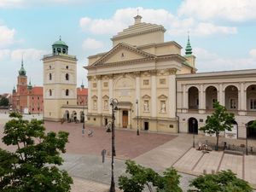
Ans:
[{"label": "beige church with columned front and pediment, excluding the arcaded wing", "polygon": [[[116,126],[177,132],[176,74],[194,73],[193,55],[181,55],[176,42],[164,42],[164,26],[141,21],[112,38],[113,49],[89,56],[88,121],[106,125],[109,99],[119,101]],[[190,63],[190,64],[189,64]]]}]

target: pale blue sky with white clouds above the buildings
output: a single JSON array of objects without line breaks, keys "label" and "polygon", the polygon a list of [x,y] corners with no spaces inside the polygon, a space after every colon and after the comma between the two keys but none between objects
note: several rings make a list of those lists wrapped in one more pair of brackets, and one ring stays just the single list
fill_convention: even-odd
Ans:
[{"label": "pale blue sky with white clouds above the buildings", "polygon": [[111,49],[137,10],[182,53],[189,32],[198,73],[256,68],[255,0],[0,0],[0,93],[16,86],[22,55],[28,81],[42,86],[41,59],[60,35],[87,86],[87,57]]}]

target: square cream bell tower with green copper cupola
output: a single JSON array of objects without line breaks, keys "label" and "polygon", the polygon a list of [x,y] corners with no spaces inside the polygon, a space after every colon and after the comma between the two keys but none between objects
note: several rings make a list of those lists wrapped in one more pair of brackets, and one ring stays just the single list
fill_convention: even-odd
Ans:
[{"label": "square cream bell tower with green copper cupola", "polygon": [[44,55],[44,119],[61,121],[62,106],[77,103],[77,58],[68,55],[61,40],[52,44],[52,53]]}]

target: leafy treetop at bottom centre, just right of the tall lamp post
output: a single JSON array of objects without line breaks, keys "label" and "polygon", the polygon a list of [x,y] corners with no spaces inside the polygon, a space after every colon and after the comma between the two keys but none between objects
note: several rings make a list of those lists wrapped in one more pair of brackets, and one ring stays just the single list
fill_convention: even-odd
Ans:
[{"label": "leafy treetop at bottom centre, just right of the tall lamp post", "polygon": [[131,160],[127,160],[125,165],[125,172],[129,173],[130,177],[119,177],[119,189],[123,189],[124,192],[141,192],[145,186],[148,186],[148,190],[152,192],[151,185],[157,192],[182,192],[178,186],[180,176],[173,168],[166,169],[163,176],[160,176],[154,170],[137,165]]}]

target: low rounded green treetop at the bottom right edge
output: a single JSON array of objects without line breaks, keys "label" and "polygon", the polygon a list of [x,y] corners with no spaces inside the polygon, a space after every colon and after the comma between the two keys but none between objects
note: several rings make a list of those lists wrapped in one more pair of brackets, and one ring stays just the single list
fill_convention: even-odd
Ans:
[{"label": "low rounded green treetop at the bottom right edge", "polygon": [[252,192],[250,185],[236,177],[236,174],[228,171],[221,171],[217,174],[207,174],[196,177],[189,184],[190,187],[195,187],[195,190],[201,192]]}]

